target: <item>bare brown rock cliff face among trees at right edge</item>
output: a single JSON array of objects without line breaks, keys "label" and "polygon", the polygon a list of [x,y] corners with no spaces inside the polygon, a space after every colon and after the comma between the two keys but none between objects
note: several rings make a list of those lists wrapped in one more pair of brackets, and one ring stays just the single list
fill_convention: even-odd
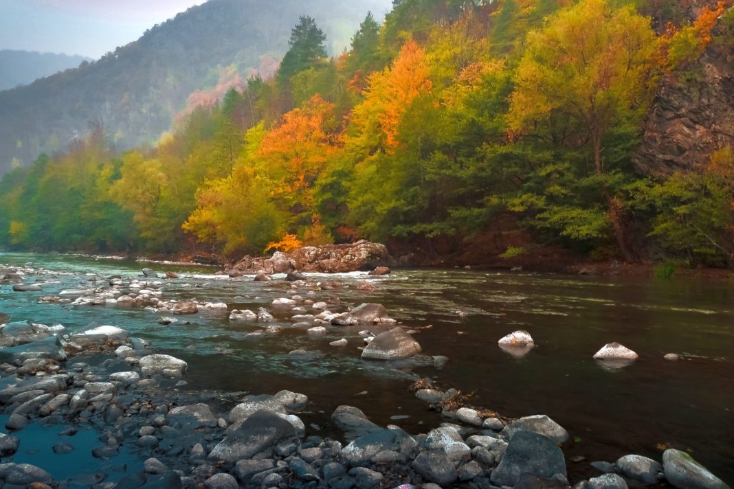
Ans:
[{"label": "bare brown rock cliff face among trees at right edge", "polygon": [[711,153],[734,147],[731,43],[711,43],[687,72],[692,79],[685,73],[669,73],[661,80],[634,158],[642,174],[700,169]]}]

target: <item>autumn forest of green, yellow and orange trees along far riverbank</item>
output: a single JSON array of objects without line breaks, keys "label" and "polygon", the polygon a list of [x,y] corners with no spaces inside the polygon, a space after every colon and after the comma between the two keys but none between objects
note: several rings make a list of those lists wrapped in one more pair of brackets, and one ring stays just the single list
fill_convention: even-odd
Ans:
[{"label": "autumn forest of green, yellow and orange trees along far riverbank", "polygon": [[634,158],[663,78],[734,49],[731,1],[396,0],[329,56],[308,15],[272,76],[118,152],[103,125],[0,183],[0,249],[243,254],[367,238],[435,253],[727,267],[734,147]]}]

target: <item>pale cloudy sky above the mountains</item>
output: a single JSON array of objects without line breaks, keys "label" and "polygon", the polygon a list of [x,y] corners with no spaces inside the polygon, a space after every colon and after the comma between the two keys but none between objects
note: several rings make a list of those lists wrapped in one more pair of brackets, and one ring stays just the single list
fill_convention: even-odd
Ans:
[{"label": "pale cloudy sky above the mountains", "polygon": [[0,49],[99,58],[204,0],[0,0]]}]

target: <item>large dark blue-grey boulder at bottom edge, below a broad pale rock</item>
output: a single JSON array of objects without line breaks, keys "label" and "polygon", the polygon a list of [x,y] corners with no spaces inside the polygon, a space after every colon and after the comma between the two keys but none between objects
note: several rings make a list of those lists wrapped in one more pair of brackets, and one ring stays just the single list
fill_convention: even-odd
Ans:
[{"label": "large dark blue-grey boulder at bottom edge, below a broad pale rock", "polygon": [[555,474],[566,477],[563,452],[543,435],[517,431],[510,439],[501,462],[492,472],[491,480],[494,485],[514,486],[524,473],[546,479]]}]

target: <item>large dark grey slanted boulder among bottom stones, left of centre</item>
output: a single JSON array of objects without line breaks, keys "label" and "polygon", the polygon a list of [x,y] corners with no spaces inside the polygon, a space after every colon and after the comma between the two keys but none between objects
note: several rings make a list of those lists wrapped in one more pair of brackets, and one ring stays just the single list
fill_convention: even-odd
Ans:
[{"label": "large dark grey slanted boulder among bottom stones, left of centre", "polygon": [[284,440],[296,438],[294,427],[269,411],[257,411],[214,446],[207,457],[213,462],[236,463]]}]

